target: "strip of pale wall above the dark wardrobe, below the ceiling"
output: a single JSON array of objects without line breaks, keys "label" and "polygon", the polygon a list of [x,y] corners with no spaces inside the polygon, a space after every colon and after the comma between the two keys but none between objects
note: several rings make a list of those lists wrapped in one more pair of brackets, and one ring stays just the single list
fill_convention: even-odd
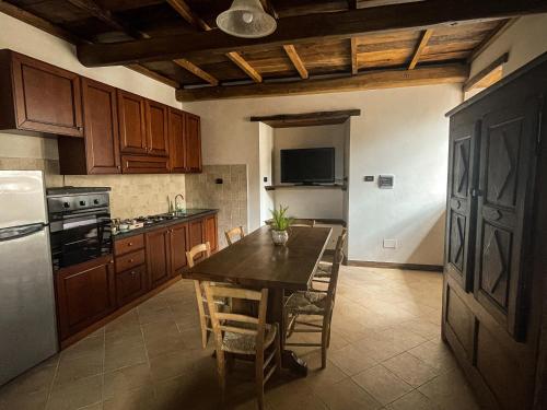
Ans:
[{"label": "strip of pale wall above the dark wardrobe, below the ceiling", "polygon": [[547,13],[520,17],[473,61],[470,75],[509,52],[503,77],[547,51]]}]

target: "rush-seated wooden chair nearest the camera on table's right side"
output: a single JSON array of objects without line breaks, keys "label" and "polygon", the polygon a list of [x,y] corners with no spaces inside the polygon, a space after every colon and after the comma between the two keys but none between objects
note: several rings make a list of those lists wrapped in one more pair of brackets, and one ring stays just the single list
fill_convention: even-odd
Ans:
[{"label": "rush-seated wooden chair nearest the camera on table's right side", "polygon": [[[291,294],[284,302],[283,315],[286,328],[283,329],[283,341],[293,333],[321,333],[321,343],[288,343],[284,345],[298,347],[321,347],[321,367],[327,365],[327,349],[330,343],[330,321],[333,319],[333,311],[335,307],[336,286],[338,284],[338,272],[340,270],[344,254],[340,250],[340,243],[344,241],[342,235],[338,237],[338,249],[335,251],[335,259],[331,265],[330,280],[326,291],[310,290],[306,292],[295,292]],[[319,316],[322,324],[299,320],[299,316]],[[301,325],[303,327],[296,327]]]}]

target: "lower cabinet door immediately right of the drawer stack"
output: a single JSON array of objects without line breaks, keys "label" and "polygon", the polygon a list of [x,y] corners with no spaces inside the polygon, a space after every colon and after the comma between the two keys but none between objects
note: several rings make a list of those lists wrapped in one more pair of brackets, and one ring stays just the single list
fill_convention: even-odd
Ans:
[{"label": "lower cabinet door immediately right of the drawer stack", "polygon": [[146,243],[149,283],[155,288],[171,277],[171,227],[148,232]]}]

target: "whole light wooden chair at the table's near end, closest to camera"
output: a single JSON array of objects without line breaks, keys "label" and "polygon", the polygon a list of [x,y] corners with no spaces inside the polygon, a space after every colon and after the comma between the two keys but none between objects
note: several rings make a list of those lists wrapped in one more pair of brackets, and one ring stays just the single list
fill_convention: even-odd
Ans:
[{"label": "whole light wooden chair at the table's near end, closest to camera", "polygon": [[[217,343],[217,371],[222,391],[226,390],[226,356],[254,355],[258,408],[264,409],[264,385],[274,372],[281,370],[281,345],[278,324],[266,324],[268,290],[252,291],[203,282]],[[258,302],[258,317],[219,312],[219,297]],[[269,352],[266,355],[266,352]]]}]

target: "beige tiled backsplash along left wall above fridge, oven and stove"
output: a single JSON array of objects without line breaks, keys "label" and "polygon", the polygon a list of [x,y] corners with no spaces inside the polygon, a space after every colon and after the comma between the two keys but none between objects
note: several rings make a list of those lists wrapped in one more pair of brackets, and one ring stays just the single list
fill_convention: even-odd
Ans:
[{"label": "beige tiled backsplash along left wall above fridge, oven and stove", "polygon": [[57,160],[0,157],[0,169],[44,171],[46,185],[110,187],[113,218],[133,218],[167,212],[167,196],[185,192],[185,175],[59,175]]}]

